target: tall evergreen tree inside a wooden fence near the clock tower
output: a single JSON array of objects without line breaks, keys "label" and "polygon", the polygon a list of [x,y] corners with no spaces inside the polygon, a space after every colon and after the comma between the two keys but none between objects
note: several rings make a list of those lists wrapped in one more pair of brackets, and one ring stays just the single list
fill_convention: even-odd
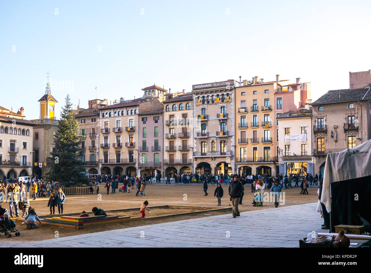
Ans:
[{"label": "tall evergreen tree inside a wooden fence near the clock tower", "polygon": [[62,107],[58,131],[54,135],[56,152],[51,152],[50,171],[46,173],[49,180],[58,181],[60,185],[69,186],[87,184],[89,179],[83,174],[81,157],[84,149],[81,147],[82,139],[79,124],[76,120],[69,95],[66,105]]}]

